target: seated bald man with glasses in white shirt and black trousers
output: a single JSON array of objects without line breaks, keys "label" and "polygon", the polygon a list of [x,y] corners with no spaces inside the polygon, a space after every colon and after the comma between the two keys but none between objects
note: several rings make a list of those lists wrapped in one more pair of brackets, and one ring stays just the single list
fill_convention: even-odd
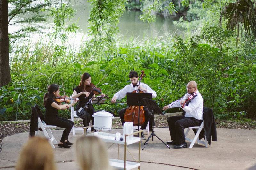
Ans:
[{"label": "seated bald man with glasses in white shirt and black trousers", "polygon": [[[184,128],[200,126],[203,121],[203,98],[197,89],[195,81],[188,82],[187,92],[180,100],[163,107],[163,110],[173,107],[181,107],[183,109],[182,116],[172,116],[167,119],[172,140],[168,141],[167,144],[175,145],[175,149],[187,148]],[[185,102],[188,97],[191,99]]]}]

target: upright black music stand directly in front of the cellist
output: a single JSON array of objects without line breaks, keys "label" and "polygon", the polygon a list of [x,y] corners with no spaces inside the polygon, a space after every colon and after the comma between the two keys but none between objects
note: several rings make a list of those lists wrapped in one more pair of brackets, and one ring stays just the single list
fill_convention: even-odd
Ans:
[{"label": "upright black music stand directly in front of the cellist", "polygon": [[[127,96],[127,105],[129,106],[139,106],[139,115],[138,115],[138,131],[140,130],[140,106],[146,106],[142,98],[152,99],[151,93],[126,93]],[[139,133],[138,133],[139,137]]]}]

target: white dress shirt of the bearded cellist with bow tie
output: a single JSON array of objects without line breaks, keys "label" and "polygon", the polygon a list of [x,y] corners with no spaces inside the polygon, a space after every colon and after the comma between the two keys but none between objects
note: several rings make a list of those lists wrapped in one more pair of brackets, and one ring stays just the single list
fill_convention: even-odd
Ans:
[{"label": "white dress shirt of the bearded cellist with bow tie", "polygon": [[[154,90],[152,90],[148,85],[140,82],[140,86],[144,87],[147,90],[145,93],[152,93],[152,98],[156,97],[156,92]],[[122,99],[126,96],[126,93],[131,93],[137,89],[138,89],[138,86],[133,87],[133,85],[131,83],[129,85],[126,85],[123,89],[121,89],[116,94],[114,94],[114,97],[116,97],[116,99]]]}]

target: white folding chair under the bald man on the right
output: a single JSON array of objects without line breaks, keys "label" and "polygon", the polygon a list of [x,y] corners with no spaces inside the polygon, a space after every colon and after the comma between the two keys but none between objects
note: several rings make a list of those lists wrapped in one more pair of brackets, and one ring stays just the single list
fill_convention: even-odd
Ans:
[{"label": "white folding chair under the bald man on the right", "polygon": [[[191,144],[189,145],[189,148],[192,148],[192,147],[194,146],[196,140],[197,140],[197,143],[198,143],[198,144],[201,143],[201,144],[204,144],[205,147],[208,147],[208,142],[207,142],[207,138],[206,138],[206,135],[205,135],[205,134],[204,134],[204,138],[205,138],[204,141],[199,140],[199,138],[198,138],[198,137],[199,137],[199,134],[200,134],[200,132],[201,132],[201,130],[202,130],[203,128],[204,128],[204,121],[201,123],[200,126],[193,126],[193,127],[189,127],[189,128],[187,129],[187,131],[186,131],[186,133],[185,133],[185,138],[186,138],[187,141],[191,142]],[[196,135],[195,135],[194,139],[190,139],[190,138],[187,137],[188,132],[189,132],[190,129],[196,129]]]}]

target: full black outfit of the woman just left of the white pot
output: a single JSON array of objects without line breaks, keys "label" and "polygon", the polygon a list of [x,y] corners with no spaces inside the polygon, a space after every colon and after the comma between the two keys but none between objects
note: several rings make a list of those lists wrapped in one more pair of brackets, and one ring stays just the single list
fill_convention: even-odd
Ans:
[{"label": "full black outfit of the woman just left of the white pot", "polygon": [[[73,90],[76,91],[76,93],[80,93],[83,92],[79,89],[79,87],[77,86],[76,88],[74,88]],[[85,94],[82,94],[78,97],[78,99],[80,100],[79,103],[76,105],[76,115],[79,116],[81,119],[83,119],[83,125],[85,126],[89,126],[90,124],[90,120],[92,120],[92,125],[94,123],[93,121],[93,117],[92,115],[95,113],[94,111],[94,107],[92,105],[92,102],[89,102],[86,109],[84,109],[82,112],[79,112],[78,110],[80,109],[80,107],[84,107],[85,104],[93,97],[93,93],[90,93],[90,95],[88,97],[86,97]],[[94,128],[92,128],[92,130],[94,130]]]}]

